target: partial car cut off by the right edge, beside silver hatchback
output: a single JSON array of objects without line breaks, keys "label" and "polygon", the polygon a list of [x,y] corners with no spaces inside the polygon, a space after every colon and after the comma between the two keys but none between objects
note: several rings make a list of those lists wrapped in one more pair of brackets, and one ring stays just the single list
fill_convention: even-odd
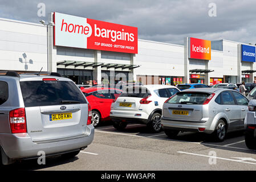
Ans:
[{"label": "partial car cut off by the right edge, beside silver hatchback", "polygon": [[256,150],[256,100],[251,100],[245,117],[245,144],[248,148]]}]

